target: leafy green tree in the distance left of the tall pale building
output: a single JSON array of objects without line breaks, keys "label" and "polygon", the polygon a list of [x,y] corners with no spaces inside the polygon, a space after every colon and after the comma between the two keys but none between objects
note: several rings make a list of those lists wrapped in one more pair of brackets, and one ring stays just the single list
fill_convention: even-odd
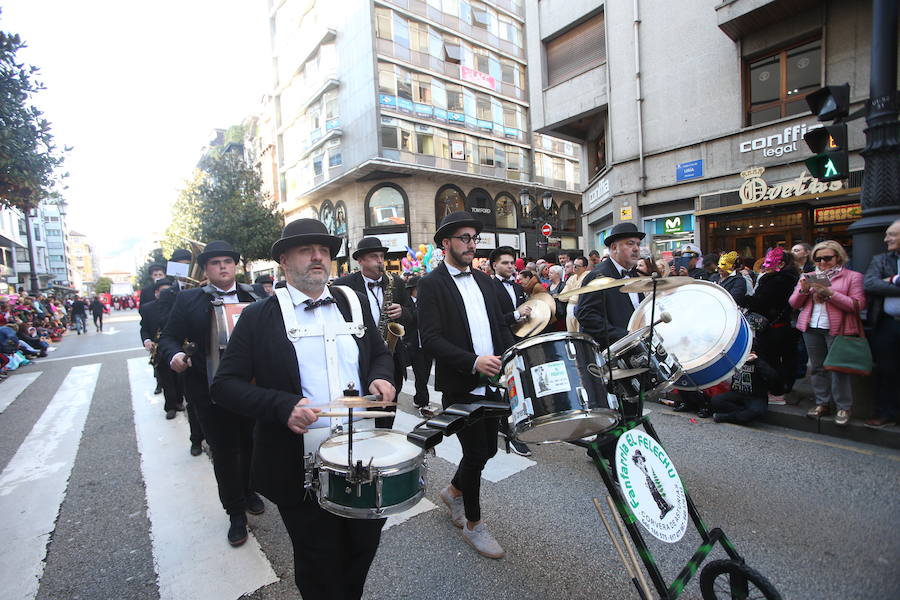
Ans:
[{"label": "leafy green tree in the distance left of the tall pale building", "polygon": [[227,240],[241,253],[246,271],[248,262],[269,258],[283,225],[275,202],[262,191],[262,178],[242,156],[210,153],[172,207],[163,250],[184,247],[184,238]]}]

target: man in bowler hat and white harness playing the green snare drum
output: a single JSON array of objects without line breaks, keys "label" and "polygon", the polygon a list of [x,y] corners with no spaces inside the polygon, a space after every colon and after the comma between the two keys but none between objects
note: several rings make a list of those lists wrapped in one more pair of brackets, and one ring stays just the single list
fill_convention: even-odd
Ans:
[{"label": "man in bowler hat and white harness playing the green snare drum", "polygon": [[342,395],[348,383],[395,397],[391,356],[364,296],[326,287],[340,248],[341,238],[315,219],[285,226],[271,254],[287,285],[241,314],[212,386],[221,406],[256,420],[253,485],[278,507],[307,600],[359,598],[385,522],[334,515],[304,489],[303,456],[326,439],[317,433],[330,432],[314,405]]}]

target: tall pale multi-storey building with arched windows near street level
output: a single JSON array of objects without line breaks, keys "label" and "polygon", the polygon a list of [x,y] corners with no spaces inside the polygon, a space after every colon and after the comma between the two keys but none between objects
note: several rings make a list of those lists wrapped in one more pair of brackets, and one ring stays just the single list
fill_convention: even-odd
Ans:
[{"label": "tall pale multi-storey building with arched windows near street level", "polygon": [[521,2],[271,4],[277,194],[347,240],[341,267],[376,235],[399,268],[463,209],[482,254],[582,246],[581,150],[532,134]]}]

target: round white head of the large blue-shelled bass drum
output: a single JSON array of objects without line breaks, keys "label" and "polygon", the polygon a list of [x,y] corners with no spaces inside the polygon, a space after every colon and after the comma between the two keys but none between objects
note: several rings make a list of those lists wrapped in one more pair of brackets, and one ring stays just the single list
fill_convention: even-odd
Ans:
[{"label": "round white head of the large blue-shelled bass drum", "polygon": [[[629,331],[650,324],[653,296],[644,298],[628,323]],[[740,313],[722,286],[697,281],[657,295],[654,317],[672,315],[669,323],[655,327],[663,347],[674,354],[685,371],[703,366],[727,350],[740,330]]]}]

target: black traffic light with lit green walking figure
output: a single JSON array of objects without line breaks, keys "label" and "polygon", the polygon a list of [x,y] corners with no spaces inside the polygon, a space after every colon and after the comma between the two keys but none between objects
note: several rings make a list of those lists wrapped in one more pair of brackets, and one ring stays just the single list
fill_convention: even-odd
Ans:
[{"label": "black traffic light with lit green walking figure", "polygon": [[806,96],[809,110],[819,121],[833,121],[810,129],[803,140],[815,156],[806,159],[810,175],[819,181],[839,181],[850,175],[847,155],[847,124],[850,113],[850,84],[826,85]]}]

